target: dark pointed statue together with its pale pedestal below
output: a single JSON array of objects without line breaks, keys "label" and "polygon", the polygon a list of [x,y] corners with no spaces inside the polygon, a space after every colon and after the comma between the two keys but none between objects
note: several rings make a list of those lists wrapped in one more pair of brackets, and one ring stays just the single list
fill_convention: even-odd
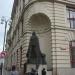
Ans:
[{"label": "dark pointed statue together with its pale pedestal below", "polygon": [[[30,37],[29,47],[27,51],[26,73],[28,75],[46,75],[47,65],[45,54],[41,53],[39,39],[33,32]],[[41,73],[42,72],[42,73]]]}]

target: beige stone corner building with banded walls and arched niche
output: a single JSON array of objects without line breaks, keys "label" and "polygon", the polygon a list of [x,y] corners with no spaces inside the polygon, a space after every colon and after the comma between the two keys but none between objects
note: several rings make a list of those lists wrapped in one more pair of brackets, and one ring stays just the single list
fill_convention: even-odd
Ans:
[{"label": "beige stone corner building with banded walls and arched niche", "polygon": [[23,69],[29,39],[35,31],[41,52],[46,55],[47,70],[53,75],[75,74],[74,0],[14,0],[11,19],[6,40],[7,67],[15,64]]}]

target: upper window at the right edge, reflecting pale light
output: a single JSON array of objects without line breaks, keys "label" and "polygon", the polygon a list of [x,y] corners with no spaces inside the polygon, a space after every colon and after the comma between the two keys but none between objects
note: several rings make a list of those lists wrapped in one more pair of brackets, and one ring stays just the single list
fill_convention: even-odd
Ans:
[{"label": "upper window at the right edge, reflecting pale light", "polygon": [[67,8],[67,20],[70,23],[70,28],[75,29],[75,9]]}]

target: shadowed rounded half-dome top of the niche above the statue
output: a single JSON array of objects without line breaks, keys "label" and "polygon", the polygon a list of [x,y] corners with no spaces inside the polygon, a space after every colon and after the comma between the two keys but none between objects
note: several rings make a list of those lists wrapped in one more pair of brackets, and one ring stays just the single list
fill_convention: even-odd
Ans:
[{"label": "shadowed rounded half-dome top of the niche above the statue", "polygon": [[42,13],[32,15],[29,22],[31,30],[38,33],[46,32],[51,25],[49,18]]}]

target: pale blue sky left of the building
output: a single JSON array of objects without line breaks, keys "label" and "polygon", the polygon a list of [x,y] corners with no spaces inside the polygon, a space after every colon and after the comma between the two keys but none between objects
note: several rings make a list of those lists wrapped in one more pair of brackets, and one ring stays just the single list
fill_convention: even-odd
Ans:
[{"label": "pale blue sky left of the building", "polygon": [[[5,24],[1,24],[1,17],[10,19],[14,0],[0,0],[0,52],[3,50]],[[8,28],[8,27],[7,27]]]}]

